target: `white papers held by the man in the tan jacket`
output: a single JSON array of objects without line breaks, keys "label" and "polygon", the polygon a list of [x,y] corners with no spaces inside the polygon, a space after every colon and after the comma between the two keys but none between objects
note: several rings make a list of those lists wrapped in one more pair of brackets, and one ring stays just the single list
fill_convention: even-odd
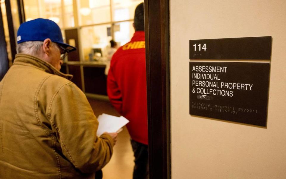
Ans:
[{"label": "white papers held by the man in the tan jacket", "polygon": [[123,126],[125,126],[129,121],[123,117],[116,117],[113,115],[108,115],[103,113],[97,118],[99,125],[97,129],[97,136],[102,135],[104,132],[118,132]]}]

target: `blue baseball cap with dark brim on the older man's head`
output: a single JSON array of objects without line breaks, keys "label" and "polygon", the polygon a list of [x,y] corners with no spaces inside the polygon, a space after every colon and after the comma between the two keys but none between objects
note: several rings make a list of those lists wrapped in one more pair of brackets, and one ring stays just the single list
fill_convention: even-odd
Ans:
[{"label": "blue baseball cap with dark brim on the older man's head", "polygon": [[20,25],[17,32],[17,44],[26,41],[44,41],[46,38],[65,48],[67,52],[77,50],[69,44],[63,43],[60,27],[49,19],[37,18],[24,22]]}]

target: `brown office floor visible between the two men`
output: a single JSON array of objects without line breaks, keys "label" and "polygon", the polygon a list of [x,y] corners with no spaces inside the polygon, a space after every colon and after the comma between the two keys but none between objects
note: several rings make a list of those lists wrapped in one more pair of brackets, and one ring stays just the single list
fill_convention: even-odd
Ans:
[{"label": "brown office floor visible between the two men", "polygon": [[[96,116],[105,113],[120,116],[109,101],[88,99]],[[132,179],[133,151],[130,144],[130,135],[126,127],[118,134],[111,161],[102,169],[103,179]]]}]

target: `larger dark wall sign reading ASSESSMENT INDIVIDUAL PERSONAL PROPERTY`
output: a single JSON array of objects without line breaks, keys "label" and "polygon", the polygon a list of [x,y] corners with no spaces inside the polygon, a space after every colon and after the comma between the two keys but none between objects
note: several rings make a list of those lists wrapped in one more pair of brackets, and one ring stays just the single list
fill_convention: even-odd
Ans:
[{"label": "larger dark wall sign reading ASSESSMENT INDIVIDUAL PERSONAL PROPERTY", "polygon": [[266,126],[269,63],[189,65],[191,115]]}]

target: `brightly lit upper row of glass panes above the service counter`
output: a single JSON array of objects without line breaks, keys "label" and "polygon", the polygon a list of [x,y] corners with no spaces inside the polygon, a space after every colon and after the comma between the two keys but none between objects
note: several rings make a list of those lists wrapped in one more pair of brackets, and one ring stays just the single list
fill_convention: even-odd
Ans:
[{"label": "brightly lit upper row of glass panes above the service counter", "polygon": [[[134,18],[136,6],[142,0],[23,0],[26,21],[49,18],[61,28],[95,25]],[[73,4],[76,2],[77,4]],[[110,2],[113,2],[111,5]],[[74,12],[74,6],[77,12]],[[111,9],[112,7],[112,9]],[[113,17],[111,19],[111,14]],[[75,18],[77,16],[78,18]],[[75,19],[77,22],[75,22]]]}]

